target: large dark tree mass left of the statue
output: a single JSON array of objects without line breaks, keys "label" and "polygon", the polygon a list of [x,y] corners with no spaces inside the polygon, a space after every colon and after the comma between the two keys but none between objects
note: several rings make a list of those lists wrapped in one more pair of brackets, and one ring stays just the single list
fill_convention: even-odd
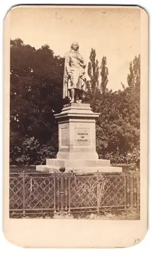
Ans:
[{"label": "large dark tree mass left of the statue", "polygon": [[64,59],[48,45],[36,50],[19,38],[11,40],[10,57],[10,148],[17,133],[20,141],[27,135],[57,151]]}]

